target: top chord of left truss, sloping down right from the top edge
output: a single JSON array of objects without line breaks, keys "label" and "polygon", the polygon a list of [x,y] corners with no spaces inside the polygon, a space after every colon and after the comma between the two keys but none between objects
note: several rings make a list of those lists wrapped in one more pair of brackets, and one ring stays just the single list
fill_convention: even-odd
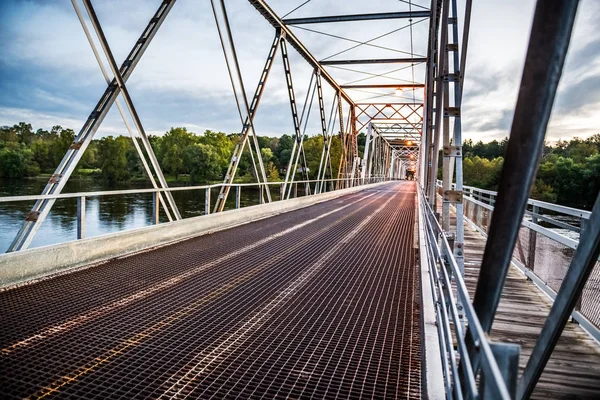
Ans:
[{"label": "top chord of left truss, sloping down right from the top edge", "polygon": [[316,68],[321,73],[322,78],[331,85],[331,87],[339,92],[340,96],[348,103],[354,104],[354,101],[342,90],[340,85],[333,79],[319,61],[304,47],[302,42],[294,35],[289,27],[287,27],[281,18],[267,5],[264,0],[248,0],[248,2],[276,29],[281,29],[282,36],[287,42],[304,58],[313,68]]}]

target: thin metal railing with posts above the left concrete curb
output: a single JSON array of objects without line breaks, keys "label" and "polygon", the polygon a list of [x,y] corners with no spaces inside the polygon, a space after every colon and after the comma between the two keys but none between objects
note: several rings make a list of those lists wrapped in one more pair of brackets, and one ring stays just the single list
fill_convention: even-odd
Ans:
[{"label": "thin metal railing with posts above the left concrete curb", "polygon": [[[291,197],[306,196],[318,193],[331,192],[347,187],[357,186],[356,182],[360,181],[360,185],[366,185],[376,182],[382,182],[389,180],[385,176],[374,176],[371,178],[357,179],[357,178],[339,178],[339,179],[321,179],[321,180],[303,180],[293,181],[288,184],[293,185],[293,190],[290,192]],[[211,190],[214,188],[221,188],[229,186],[235,188],[235,200],[233,208],[242,208],[241,204],[241,191],[243,188],[258,188],[258,204],[263,204],[265,188],[279,186],[279,200],[283,199],[281,195],[283,185],[285,182],[262,182],[262,183],[217,183],[211,185],[199,185],[199,186],[182,186],[182,187],[171,187],[171,188],[149,188],[149,189],[126,189],[126,190],[109,190],[109,191],[95,191],[95,192],[78,192],[78,193],[61,193],[55,195],[27,195],[27,196],[5,196],[0,197],[0,204],[3,203],[17,203],[17,202],[32,202],[38,200],[48,199],[77,199],[77,211],[76,211],[76,230],[77,239],[84,239],[85,236],[85,215],[86,215],[86,200],[90,197],[105,197],[105,196],[126,196],[132,194],[151,194],[152,195],[152,224],[156,225],[160,223],[160,194],[164,192],[182,192],[182,191],[204,191],[204,215],[211,213]],[[337,184],[336,184],[337,183]],[[311,185],[314,187],[311,188]],[[303,190],[298,190],[298,187]],[[322,190],[320,190],[322,189]]]}]

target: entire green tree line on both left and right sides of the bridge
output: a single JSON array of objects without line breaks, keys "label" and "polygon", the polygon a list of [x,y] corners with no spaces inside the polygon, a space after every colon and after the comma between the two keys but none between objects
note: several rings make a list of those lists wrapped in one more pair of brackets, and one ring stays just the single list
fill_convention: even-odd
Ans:
[{"label": "entire green tree line on both left and right sides of the bridge", "polygon": [[[33,130],[21,122],[0,127],[0,177],[21,178],[51,174],[73,143],[71,129],[55,126]],[[210,130],[202,134],[186,128],[171,128],[164,135],[149,137],[158,163],[171,181],[209,183],[223,179],[234,147],[240,143],[239,134]],[[294,139],[258,136],[261,158],[267,177],[277,181],[285,174]],[[358,136],[359,156],[362,157],[366,137]],[[463,143],[465,185],[496,190],[504,163],[508,139],[488,143],[466,140]],[[144,148],[138,139],[140,148]],[[240,159],[238,182],[255,181],[256,177],[248,146]],[[315,179],[321,161],[323,137],[304,138],[304,153],[309,178]],[[331,146],[333,176],[341,156],[339,137]],[[441,166],[440,157],[440,166]],[[92,140],[76,168],[76,174],[88,174],[108,184],[130,180],[145,180],[145,171],[130,137],[107,136]],[[441,169],[439,171],[441,178]],[[574,138],[544,146],[532,197],[570,207],[591,209],[600,190],[600,134],[588,139]]]}]

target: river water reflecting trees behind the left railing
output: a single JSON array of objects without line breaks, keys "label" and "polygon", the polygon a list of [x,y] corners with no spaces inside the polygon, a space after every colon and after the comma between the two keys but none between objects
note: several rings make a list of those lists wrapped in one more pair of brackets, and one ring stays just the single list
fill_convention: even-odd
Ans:
[{"label": "river water reflecting trees behind the left railing", "polygon": [[[38,195],[46,184],[45,179],[0,180],[0,197]],[[176,186],[176,185],[173,185]],[[275,186],[278,188],[278,186]],[[63,193],[109,191],[121,189],[149,188],[146,183],[129,183],[109,187],[92,179],[71,178]],[[278,192],[278,190],[272,190]],[[211,190],[212,206],[219,194],[218,188]],[[176,191],[173,197],[183,218],[204,214],[205,190]],[[274,200],[278,193],[272,193]],[[0,203],[0,253],[8,249],[18,232],[25,215],[35,202]],[[258,190],[243,187],[240,196],[242,207],[258,204]],[[235,207],[235,192],[231,191],[226,209]],[[46,246],[77,238],[77,200],[56,201],[30,247]],[[86,198],[85,237],[104,235],[152,224],[152,194],[128,194]],[[161,222],[168,221],[161,210]]]}]

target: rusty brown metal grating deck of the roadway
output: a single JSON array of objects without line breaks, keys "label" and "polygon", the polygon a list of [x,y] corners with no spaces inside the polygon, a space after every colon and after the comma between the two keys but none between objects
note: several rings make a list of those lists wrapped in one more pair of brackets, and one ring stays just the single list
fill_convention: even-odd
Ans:
[{"label": "rusty brown metal grating deck of the roadway", "polygon": [[6,398],[420,398],[414,183],[0,293]]}]

